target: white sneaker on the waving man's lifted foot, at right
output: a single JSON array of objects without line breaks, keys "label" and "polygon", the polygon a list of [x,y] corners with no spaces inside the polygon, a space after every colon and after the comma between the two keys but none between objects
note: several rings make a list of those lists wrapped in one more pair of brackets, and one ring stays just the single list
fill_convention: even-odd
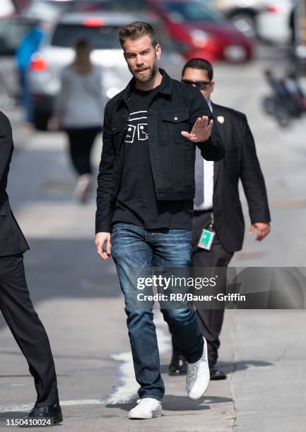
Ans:
[{"label": "white sneaker on the waving man's lifted foot, at right", "polygon": [[187,363],[186,390],[191,399],[199,399],[206,392],[211,379],[208,366],[207,342],[204,339],[204,349],[201,359],[196,363]]}]

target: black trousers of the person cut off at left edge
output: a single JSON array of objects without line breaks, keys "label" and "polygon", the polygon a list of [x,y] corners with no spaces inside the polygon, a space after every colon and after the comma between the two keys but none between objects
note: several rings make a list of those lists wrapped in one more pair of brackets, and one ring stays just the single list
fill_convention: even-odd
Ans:
[{"label": "black trousers of the person cut off at left edge", "polygon": [[30,300],[23,255],[0,257],[0,309],[28,361],[37,392],[36,407],[58,402],[53,356],[45,328]]}]

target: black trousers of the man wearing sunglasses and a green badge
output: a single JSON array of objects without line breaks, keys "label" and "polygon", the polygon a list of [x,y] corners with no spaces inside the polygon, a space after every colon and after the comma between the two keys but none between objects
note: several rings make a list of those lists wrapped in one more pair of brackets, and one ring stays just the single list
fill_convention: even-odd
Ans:
[{"label": "black trousers of the man wearing sunglasses and a green badge", "polygon": [[[211,220],[211,211],[194,212],[192,229],[192,265],[194,267],[227,267],[233,253],[225,251],[216,235],[210,251],[198,248],[202,229],[207,228]],[[225,281],[226,282],[226,281]],[[196,317],[201,326],[202,333],[207,340],[208,362],[210,366],[218,360],[220,347],[220,332],[223,323],[224,309],[197,309]]]}]

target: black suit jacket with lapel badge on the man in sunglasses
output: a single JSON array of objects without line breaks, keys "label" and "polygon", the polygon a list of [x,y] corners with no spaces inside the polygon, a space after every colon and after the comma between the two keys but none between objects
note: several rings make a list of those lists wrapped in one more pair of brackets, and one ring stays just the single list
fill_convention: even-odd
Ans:
[{"label": "black suit jacket with lapel badge on the man in sunglasses", "polygon": [[245,235],[239,180],[247,197],[252,224],[270,222],[269,204],[247,117],[235,109],[217,104],[212,104],[212,107],[225,144],[224,159],[214,162],[213,214],[223,248],[235,252],[242,248]]}]

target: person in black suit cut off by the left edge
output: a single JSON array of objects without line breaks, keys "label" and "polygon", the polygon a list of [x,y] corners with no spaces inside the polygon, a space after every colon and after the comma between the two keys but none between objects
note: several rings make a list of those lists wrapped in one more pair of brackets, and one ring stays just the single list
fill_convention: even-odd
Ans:
[{"label": "person in black suit cut off by the left edge", "polygon": [[37,400],[28,419],[38,417],[56,424],[63,418],[54,361],[25,280],[23,253],[28,251],[28,243],[11,212],[6,193],[12,153],[11,124],[0,112],[0,309],[34,378]]}]

